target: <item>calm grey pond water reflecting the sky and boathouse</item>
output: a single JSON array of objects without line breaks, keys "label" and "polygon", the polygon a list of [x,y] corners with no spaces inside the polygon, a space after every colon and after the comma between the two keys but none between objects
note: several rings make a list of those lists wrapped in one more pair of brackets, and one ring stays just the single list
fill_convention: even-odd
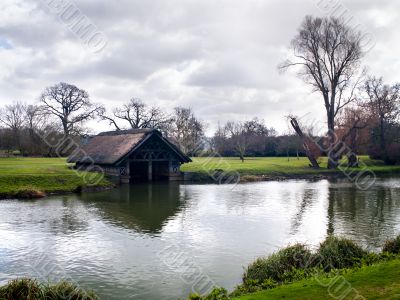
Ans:
[{"label": "calm grey pond water reflecting the sky and boathouse", "polygon": [[[0,201],[0,284],[67,279],[104,299],[185,299],[232,289],[256,257],[327,233],[377,250],[400,232],[400,179],[368,191],[303,180],[153,184]],[[196,280],[198,278],[198,280]]]}]

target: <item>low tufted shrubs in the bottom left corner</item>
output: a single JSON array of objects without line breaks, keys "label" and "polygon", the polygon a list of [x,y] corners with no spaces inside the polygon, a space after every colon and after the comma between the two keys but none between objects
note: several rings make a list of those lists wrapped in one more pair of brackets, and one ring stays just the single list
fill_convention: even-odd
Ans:
[{"label": "low tufted shrubs in the bottom left corner", "polygon": [[2,300],[99,300],[93,292],[86,292],[67,282],[44,285],[29,278],[11,280],[0,287]]}]

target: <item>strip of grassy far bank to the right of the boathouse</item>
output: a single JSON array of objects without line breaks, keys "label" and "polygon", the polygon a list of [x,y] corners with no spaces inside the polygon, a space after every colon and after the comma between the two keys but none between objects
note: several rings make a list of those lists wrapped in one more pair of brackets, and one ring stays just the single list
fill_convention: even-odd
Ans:
[{"label": "strip of grassy far bank to the right of the boathouse", "polygon": [[[382,161],[372,160],[367,156],[360,156],[360,166],[367,166],[369,170],[380,174],[400,174],[400,166],[387,166]],[[273,177],[301,177],[305,175],[318,176],[318,175],[335,175],[340,174],[338,170],[326,169],[327,158],[322,157],[319,159],[321,169],[315,170],[309,167],[309,161],[306,157],[251,157],[246,158],[242,163],[239,158],[208,158],[197,157],[193,158],[193,162],[182,166],[182,171],[193,172],[199,174],[199,177],[206,176],[215,170],[223,170],[238,172],[244,179],[246,177],[260,177],[264,176],[266,179]],[[355,170],[362,170],[363,167],[355,168]]]}]

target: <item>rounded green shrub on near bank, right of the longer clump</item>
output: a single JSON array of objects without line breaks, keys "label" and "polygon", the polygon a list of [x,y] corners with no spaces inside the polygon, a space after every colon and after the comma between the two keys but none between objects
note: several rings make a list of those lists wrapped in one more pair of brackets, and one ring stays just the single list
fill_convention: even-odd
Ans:
[{"label": "rounded green shrub on near bank, right of the longer clump", "polygon": [[328,236],[318,249],[316,266],[325,271],[352,268],[361,265],[367,252],[352,240]]}]

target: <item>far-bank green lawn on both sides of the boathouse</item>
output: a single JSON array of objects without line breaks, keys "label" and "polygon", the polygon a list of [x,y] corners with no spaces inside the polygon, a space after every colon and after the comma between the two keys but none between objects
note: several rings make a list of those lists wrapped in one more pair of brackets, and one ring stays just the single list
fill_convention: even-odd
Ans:
[{"label": "far-bank green lawn on both sides of the boathouse", "polygon": [[[380,161],[361,157],[369,168],[377,174],[400,173],[400,166],[385,166]],[[321,166],[326,167],[326,158],[321,158]],[[307,174],[327,174],[332,171],[322,168],[314,170],[308,167],[307,158],[260,157],[246,158],[193,158],[193,162],[182,166],[182,171],[200,175],[222,169],[237,171],[242,176],[287,176]],[[337,172],[337,171],[333,171]],[[199,176],[201,179],[201,176]],[[37,190],[44,193],[71,192],[97,182],[93,173],[80,172],[68,168],[64,158],[0,158],[0,198],[17,196],[21,191]],[[96,186],[110,186],[106,180],[100,180]]]}]

